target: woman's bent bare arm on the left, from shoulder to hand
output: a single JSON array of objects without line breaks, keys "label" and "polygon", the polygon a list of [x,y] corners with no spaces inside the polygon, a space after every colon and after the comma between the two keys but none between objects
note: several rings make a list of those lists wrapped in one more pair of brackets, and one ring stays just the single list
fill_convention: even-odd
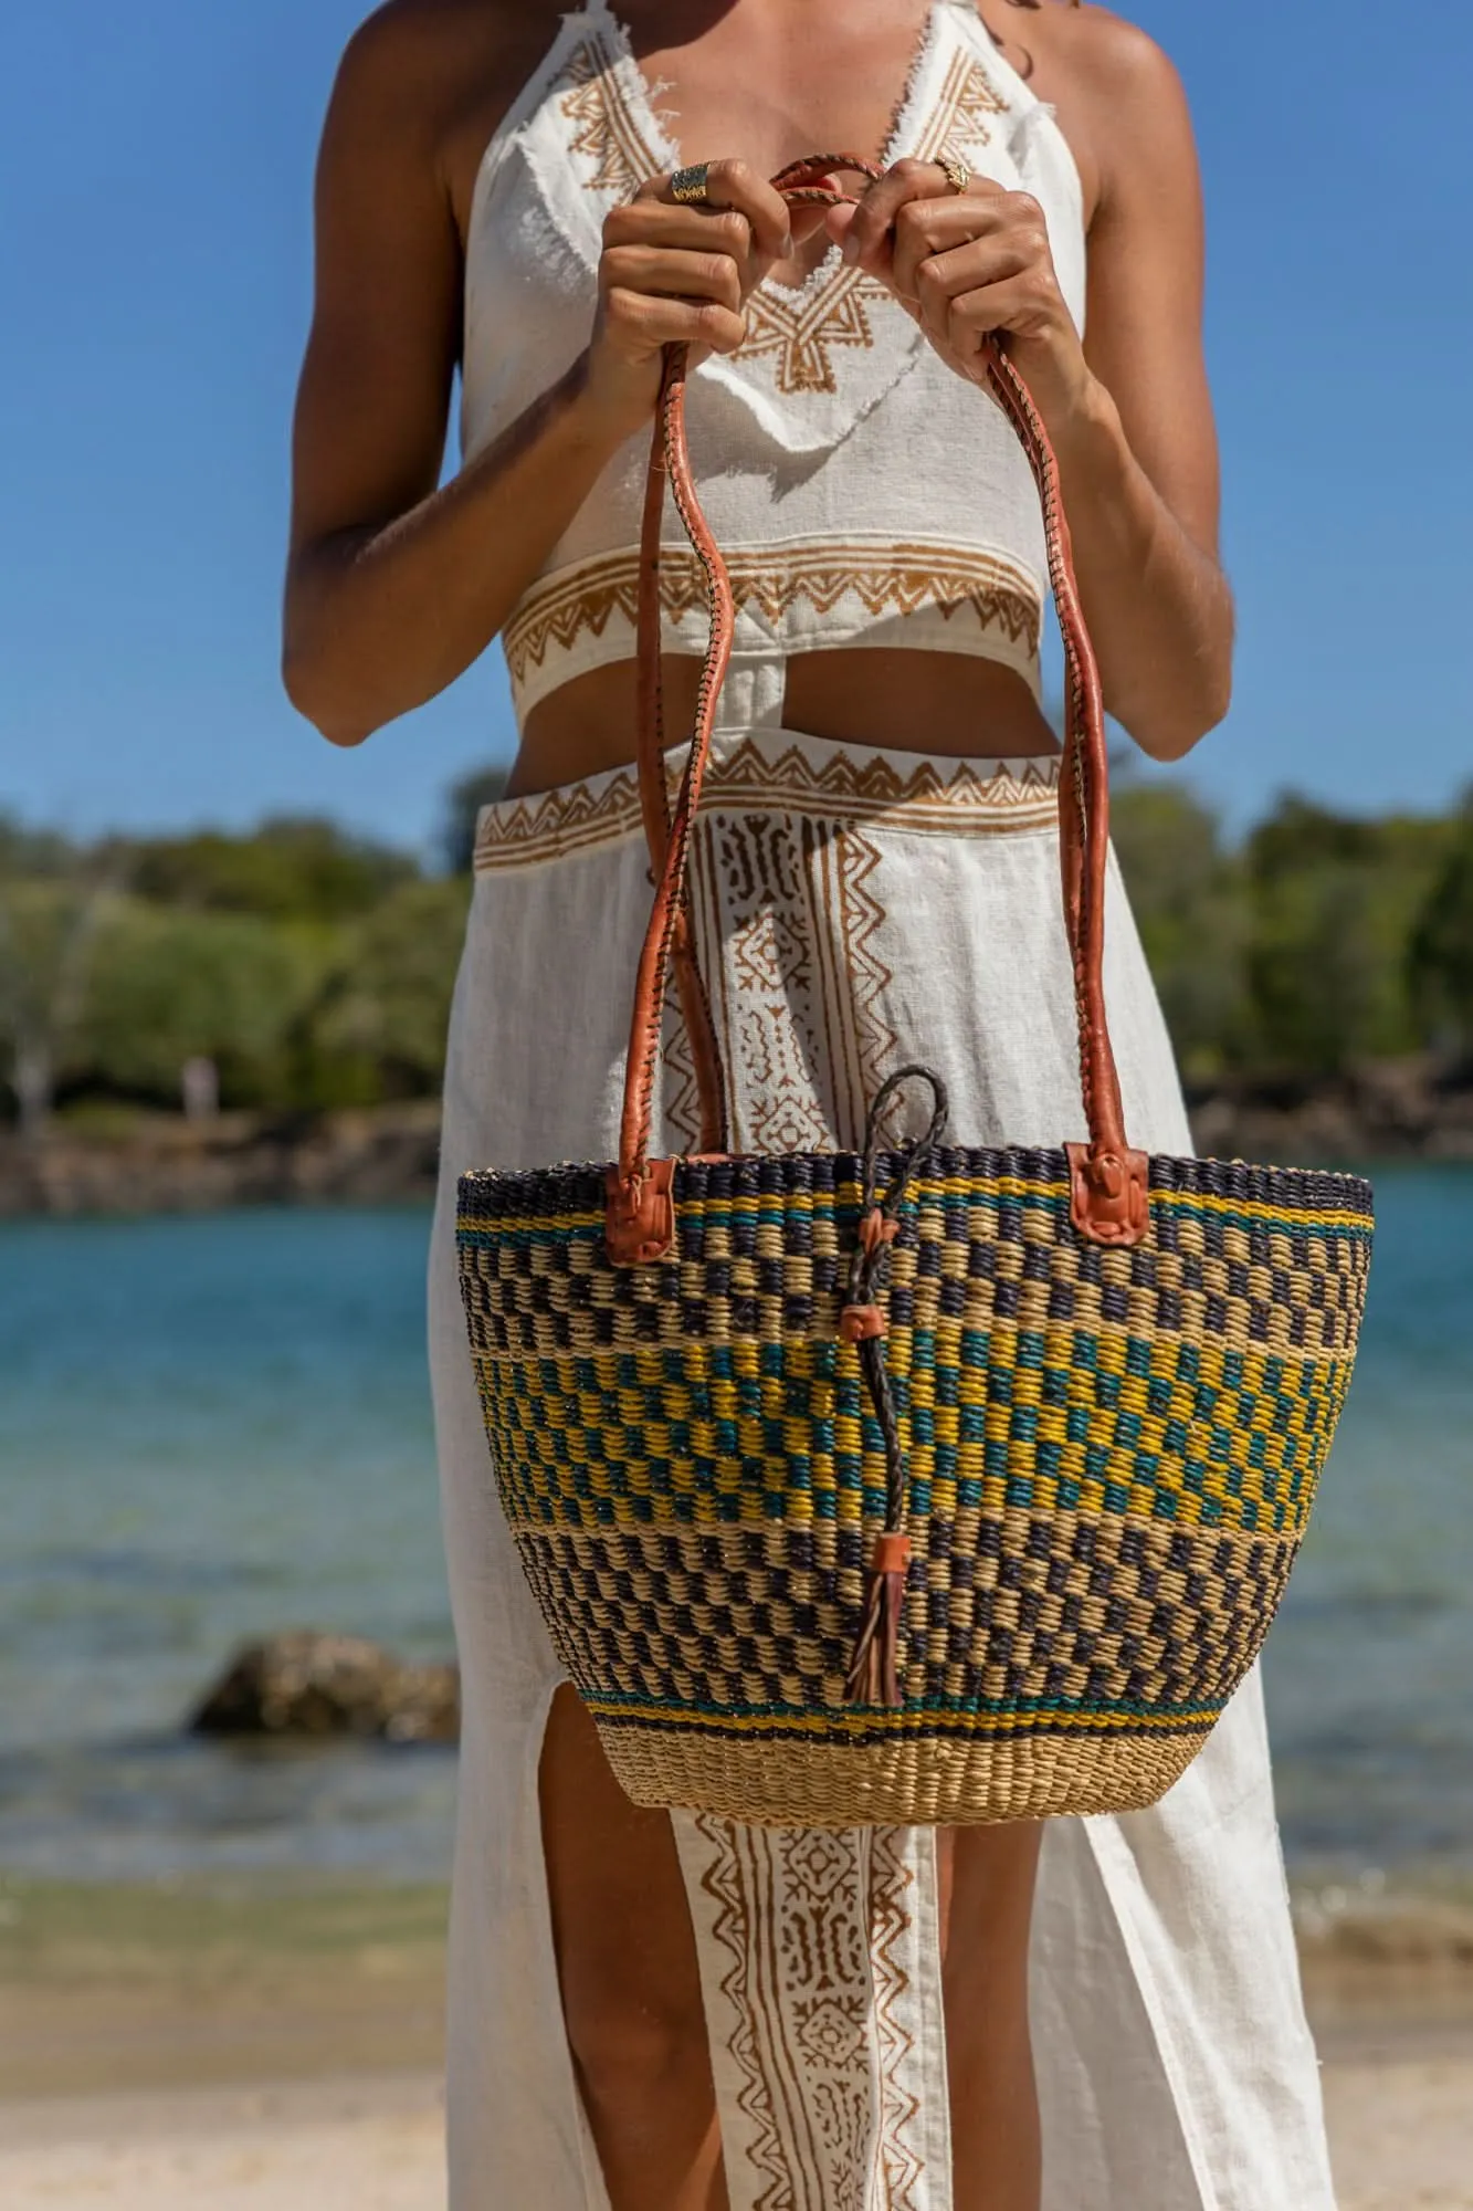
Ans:
[{"label": "woman's bent bare arm on the left, from shoulder to hand", "polygon": [[734,352],[787,217],[741,164],[725,208],[652,179],[606,226],[588,352],[436,489],[460,352],[462,248],[433,139],[422,15],[352,40],[316,179],[316,305],[294,427],[283,679],[336,745],[445,690],[484,652],[599,471],[655,407],[670,338]]}]

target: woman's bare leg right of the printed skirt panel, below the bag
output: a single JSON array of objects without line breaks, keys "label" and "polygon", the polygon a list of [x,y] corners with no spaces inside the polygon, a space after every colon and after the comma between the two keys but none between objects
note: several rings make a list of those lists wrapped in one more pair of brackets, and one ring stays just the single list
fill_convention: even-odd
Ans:
[{"label": "woman's bare leg right of the printed skirt panel, below the bag", "polygon": [[1042,1835],[1028,1822],[938,1837],[955,2211],[1040,2211],[1028,1928]]}]

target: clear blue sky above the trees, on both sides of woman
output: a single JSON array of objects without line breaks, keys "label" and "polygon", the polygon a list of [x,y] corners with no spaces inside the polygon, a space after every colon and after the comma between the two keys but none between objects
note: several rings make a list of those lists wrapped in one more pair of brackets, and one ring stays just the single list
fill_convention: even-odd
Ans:
[{"label": "clear blue sky above the trees, on both sides of woman", "polygon": [[[794,0],[796,4],[796,0]],[[310,181],[356,0],[44,0],[0,29],[0,809],[332,811],[425,840],[504,756],[495,657],[341,754],[276,683]],[[1190,763],[1442,807],[1473,778],[1469,11],[1141,0],[1192,95],[1239,692]]]}]

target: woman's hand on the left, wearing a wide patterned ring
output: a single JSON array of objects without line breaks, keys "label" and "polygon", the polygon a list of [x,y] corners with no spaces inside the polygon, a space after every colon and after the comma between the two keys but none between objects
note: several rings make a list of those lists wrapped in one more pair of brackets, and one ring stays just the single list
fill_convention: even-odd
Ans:
[{"label": "woman's hand on the left, wearing a wide patterned ring", "polygon": [[750,292],[792,250],[783,199],[745,161],[712,161],[706,190],[703,203],[681,203],[670,177],[650,177],[604,221],[586,391],[621,436],[655,407],[661,349],[734,354]]}]

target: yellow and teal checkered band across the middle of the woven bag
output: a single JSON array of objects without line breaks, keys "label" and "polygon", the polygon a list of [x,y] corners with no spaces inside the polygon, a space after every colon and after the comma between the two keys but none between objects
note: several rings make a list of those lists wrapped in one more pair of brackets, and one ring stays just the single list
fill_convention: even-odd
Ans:
[{"label": "yellow and teal checkered band across the middle of the woven bag", "polygon": [[[938,1353],[951,1366],[960,1351],[960,1327],[955,1320],[944,1320],[938,1329]],[[1057,1344],[1048,1344],[1046,1358],[1051,1366],[1068,1373],[1066,1404],[1044,1404],[1042,1369],[1017,1364],[1017,1322],[993,1322],[995,1362],[1011,1369],[1006,1402],[989,1395],[986,1369],[962,1366],[953,1382],[958,1402],[938,1404],[936,1369],[911,1366],[911,1331],[898,1329],[891,1335],[894,1371],[909,1375],[911,1382],[911,1413],[902,1419],[911,1481],[929,1484],[931,1510],[938,1517],[958,1515],[962,1486],[975,1499],[975,1510],[1000,1517],[1026,1484],[1033,1512],[1053,1512],[1068,1503],[1090,1515],[1130,1512],[1137,1519],[1166,1519],[1177,1528],[1199,1528],[1203,1521],[1210,1528],[1239,1528],[1247,1515],[1261,1534],[1274,1534],[1281,1515],[1287,1515],[1285,1528],[1303,1526],[1334,1415],[1349,1382],[1349,1362],[1312,1355],[1285,1360],[1274,1351],[1247,1351],[1236,1353],[1243,1380],[1225,1384],[1225,1362],[1232,1353],[1219,1342],[1199,1344],[1197,1373],[1179,1377],[1172,1371],[1170,1342],[1152,1346],[1152,1373],[1141,1375],[1128,1371],[1124,1329],[1106,1329],[1093,1338],[1095,1366],[1070,1364],[1068,1322],[1057,1322],[1053,1333]],[[958,1342],[947,1342],[949,1335]],[[854,1351],[807,1340],[790,1342],[783,1373],[772,1375],[761,1371],[761,1353],[752,1340],[725,1349],[730,1375],[710,1373],[701,1349],[688,1346],[681,1380],[675,1380],[664,1369],[661,1351],[641,1346],[635,1360],[664,1417],[650,1417],[650,1402],[641,1393],[619,1389],[617,1424],[606,1397],[579,1389],[577,1358],[571,1353],[504,1362],[478,1355],[502,1479],[518,1495],[513,1519],[540,1526],[542,1510],[553,1506],[557,1517],[571,1512],[573,1521],[579,1521],[582,1508],[575,1499],[582,1495],[595,1508],[604,1501],[615,1526],[639,1526],[650,1519],[655,1526],[688,1523],[690,1499],[697,1521],[717,1526],[723,1521],[721,1499],[741,1497],[745,1503],[741,1519],[759,1523],[767,1517],[765,1492],[772,1490],[783,1497],[787,1521],[827,1519],[858,1526],[865,1515],[865,1488],[885,1486],[885,1459],[880,1450],[863,1448],[860,1419],[838,1406],[838,1384],[843,1373],[852,1371]],[[617,1353],[593,1355],[595,1366],[604,1360],[617,1360]],[[1270,1360],[1285,1369],[1281,1393],[1265,1389]],[[562,1371],[560,1389],[546,1389],[546,1366]],[[1110,1408],[1099,1404],[1099,1375],[1108,1375],[1115,1384],[1117,1404]],[[1309,1382],[1312,1391],[1305,1386]],[[1170,1389],[1166,1402],[1161,1384]],[[1203,1386],[1221,1391],[1216,1419],[1203,1422],[1197,1413]],[[796,1408],[790,1395],[794,1389]],[[1312,1397],[1329,1402],[1320,1406],[1318,1433],[1307,1442]],[[969,1408],[973,1422],[982,1417],[984,1437],[962,1437],[962,1413]],[[1068,1435],[1073,1408],[1088,1413],[1093,1446],[1119,1433],[1121,1415],[1139,1422],[1128,1442],[1110,1450],[1104,1475],[1088,1468],[1086,1439]],[[1031,1437],[1017,1433],[1020,1411],[1035,1419]],[[924,1415],[929,1415],[929,1437],[916,1433],[924,1426]],[[679,1455],[672,1450],[670,1431],[670,1422],[677,1419],[688,1428],[688,1444]],[[719,1450],[717,1422],[728,1422],[728,1433],[734,1431],[734,1453],[730,1446],[725,1453]],[[1168,1444],[1168,1428],[1174,1422],[1181,1422],[1192,1437],[1188,1446],[1197,1461],[1192,1481],[1183,1457]],[[781,1426],[787,1464],[772,1453],[767,1424]],[[1219,1431],[1216,1450],[1210,1448],[1208,1428]],[[602,1439],[599,1450],[591,1448],[593,1437]],[[986,1444],[1002,1448],[1006,1473],[989,1466]],[[1040,1446],[1046,1444],[1057,1453],[1053,1468],[1040,1461]],[[1250,1457],[1254,1448],[1261,1464]],[[953,1453],[949,1468],[938,1464],[947,1450]],[[794,1479],[796,1461],[803,1461],[803,1479]],[[856,1461],[863,1464],[860,1479]],[[1298,1470],[1296,1497],[1285,1488],[1292,1461]],[[761,1484],[752,1481],[752,1464],[763,1466]],[[1115,1501],[1108,1501],[1108,1490],[1117,1492]],[[1163,1499],[1170,1499],[1166,1515]]]}]

